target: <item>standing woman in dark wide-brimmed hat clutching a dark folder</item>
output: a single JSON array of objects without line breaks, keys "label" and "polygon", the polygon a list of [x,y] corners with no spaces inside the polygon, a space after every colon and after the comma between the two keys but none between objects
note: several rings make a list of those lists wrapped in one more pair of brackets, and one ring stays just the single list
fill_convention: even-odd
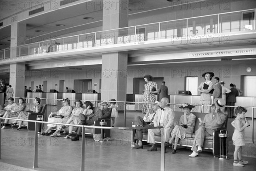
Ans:
[{"label": "standing woman in dark wide-brimmed hat clutching a dark folder", "polygon": [[[213,89],[213,83],[212,83],[212,77],[214,76],[213,72],[205,72],[202,74],[202,77],[206,80],[205,82],[201,83],[197,89],[197,91],[200,93],[200,105],[211,105],[212,104],[212,98],[211,98],[211,90]],[[204,107],[204,113],[209,113],[210,110],[205,110],[206,107]],[[199,111],[203,112],[202,106],[199,106]]]}]

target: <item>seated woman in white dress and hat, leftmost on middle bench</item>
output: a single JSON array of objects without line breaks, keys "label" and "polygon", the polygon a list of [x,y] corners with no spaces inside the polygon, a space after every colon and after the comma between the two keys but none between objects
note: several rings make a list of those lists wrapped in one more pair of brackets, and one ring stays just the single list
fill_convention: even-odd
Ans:
[{"label": "seated woman in white dress and hat, leftmost on middle bench", "polygon": [[[68,98],[63,99],[61,102],[63,104],[63,107],[57,112],[51,112],[48,116],[48,122],[52,123],[66,123],[68,120],[68,117],[70,117],[70,114],[72,112],[72,107],[70,106],[70,100]],[[49,135],[52,131],[52,128],[56,127],[59,128],[61,125],[56,124],[47,124],[48,128],[44,132],[42,132],[42,135]]]}]

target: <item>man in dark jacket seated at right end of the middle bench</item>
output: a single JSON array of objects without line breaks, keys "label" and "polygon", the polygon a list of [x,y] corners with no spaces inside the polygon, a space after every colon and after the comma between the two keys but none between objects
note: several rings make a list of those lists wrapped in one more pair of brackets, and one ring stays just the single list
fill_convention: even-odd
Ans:
[{"label": "man in dark jacket seated at right end of the middle bench", "polygon": [[[94,121],[99,119],[110,119],[111,117],[111,113],[108,109],[108,106],[110,104],[106,101],[103,101],[100,104],[100,110],[98,110],[95,114],[91,114],[89,116],[85,116],[84,114],[79,114],[79,119],[81,120],[79,125],[93,125]],[[89,120],[87,120],[87,117],[89,118]],[[82,133],[82,127],[78,127],[76,130],[76,137],[71,139],[72,141],[78,141],[79,140],[79,136]]]}]

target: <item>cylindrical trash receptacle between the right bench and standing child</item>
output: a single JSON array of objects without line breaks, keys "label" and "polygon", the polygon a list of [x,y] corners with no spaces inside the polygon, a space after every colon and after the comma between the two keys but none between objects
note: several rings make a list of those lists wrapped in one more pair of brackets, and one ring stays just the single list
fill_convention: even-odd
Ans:
[{"label": "cylindrical trash receptacle between the right bench and standing child", "polygon": [[219,160],[227,160],[227,151],[228,151],[228,134],[227,130],[220,130],[220,157]]}]

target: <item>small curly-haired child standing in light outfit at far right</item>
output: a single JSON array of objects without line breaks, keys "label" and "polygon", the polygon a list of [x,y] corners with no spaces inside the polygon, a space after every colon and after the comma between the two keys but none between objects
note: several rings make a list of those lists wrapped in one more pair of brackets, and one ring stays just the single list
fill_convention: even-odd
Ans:
[{"label": "small curly-haired child standing in light outfit at far right", "polygon": [[[238,166],[238,167],[244,167],[245,164],[247,164],[247,161],[244,161],[242,159],[242,146],[245,145],[244,142],[244,128],[246,128],[249,123],[246,122],[245,125],[242,123],[242,119],[244,119],[244,114],[247,112],[247,109],[238,106],[235,110],[237,117],[236,119],[231,123],[233,127],[235,127],[235,131],[232,137],[235,147],[234,151],[234,163],[233,166]],[[239,160],[237,159],[239,158]]]}]

